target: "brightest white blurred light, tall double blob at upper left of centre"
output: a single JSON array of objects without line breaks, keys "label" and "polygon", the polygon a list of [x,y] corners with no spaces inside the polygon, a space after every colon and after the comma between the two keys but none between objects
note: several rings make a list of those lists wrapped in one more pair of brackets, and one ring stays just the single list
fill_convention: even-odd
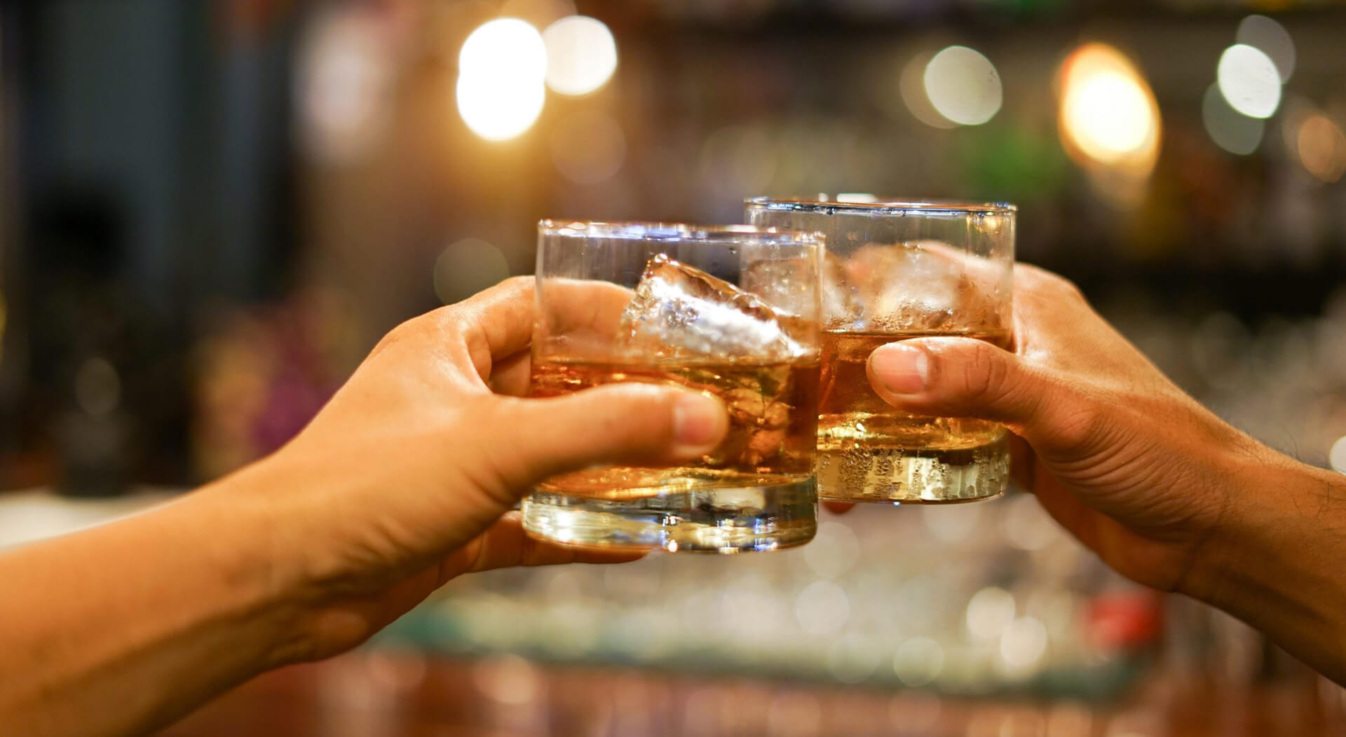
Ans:
[{"label": "brightest white blurred light, tall double blob at upper left of centre", "polygon": [[517,17],[472,31],[458,56],[458,112],[478,136],[502,141],[528,130],[546,101],[546,47]]}]

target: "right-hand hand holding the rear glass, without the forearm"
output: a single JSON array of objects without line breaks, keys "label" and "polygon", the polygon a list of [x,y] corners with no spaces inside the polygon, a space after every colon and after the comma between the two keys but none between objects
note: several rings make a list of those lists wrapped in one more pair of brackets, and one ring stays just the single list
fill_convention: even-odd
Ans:
[{"label": "right-hand hand holding the rear glass, without the forearm", "polygon": [[961,338],[883,346],[874,389],[906,412],[1004,422],[1015,477],[1120,573],[1183,588],[1257,442],[1179,390],[1066,280],[1018,266],[1016,347]]}]

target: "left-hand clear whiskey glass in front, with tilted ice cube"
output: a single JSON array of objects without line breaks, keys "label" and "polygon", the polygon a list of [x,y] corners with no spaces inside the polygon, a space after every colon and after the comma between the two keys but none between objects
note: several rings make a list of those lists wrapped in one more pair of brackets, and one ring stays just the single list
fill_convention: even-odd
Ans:
[{"label": "left-hand clear whiskey glass in front, with tilted ice cube", "polygon": [[713,394],[730,432],[673,468],[548,479],[524,527],[580,546],[739,553],[817,527],[817,234],[748,226],[538,223],[532,395],[614,382]]}]

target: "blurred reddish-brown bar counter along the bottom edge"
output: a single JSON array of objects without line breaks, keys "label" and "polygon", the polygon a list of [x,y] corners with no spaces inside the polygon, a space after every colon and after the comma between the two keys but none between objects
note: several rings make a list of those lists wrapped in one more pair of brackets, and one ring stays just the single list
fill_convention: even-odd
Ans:
[{"label": "blurred reddish-brown bar counter along the bottom edge", "polygon": [[276,671],[163,737],[1267,737],[1346,733],[1342,690],[1310,674],[1256,685],[1158,670],[1106,703],[941,699],[516,656],[361,651]]}]

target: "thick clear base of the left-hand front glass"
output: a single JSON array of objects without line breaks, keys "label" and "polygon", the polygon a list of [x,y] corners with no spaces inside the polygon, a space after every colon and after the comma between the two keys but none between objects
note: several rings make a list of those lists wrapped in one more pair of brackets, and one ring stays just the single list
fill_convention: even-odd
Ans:
[{"label": "thick clear base of the left-hand front glass", "polygon": [[748,553],[802,545],[817,531],[813,479],[622,502],[538,490],[522,511],[529,535],[580,547]]}]

